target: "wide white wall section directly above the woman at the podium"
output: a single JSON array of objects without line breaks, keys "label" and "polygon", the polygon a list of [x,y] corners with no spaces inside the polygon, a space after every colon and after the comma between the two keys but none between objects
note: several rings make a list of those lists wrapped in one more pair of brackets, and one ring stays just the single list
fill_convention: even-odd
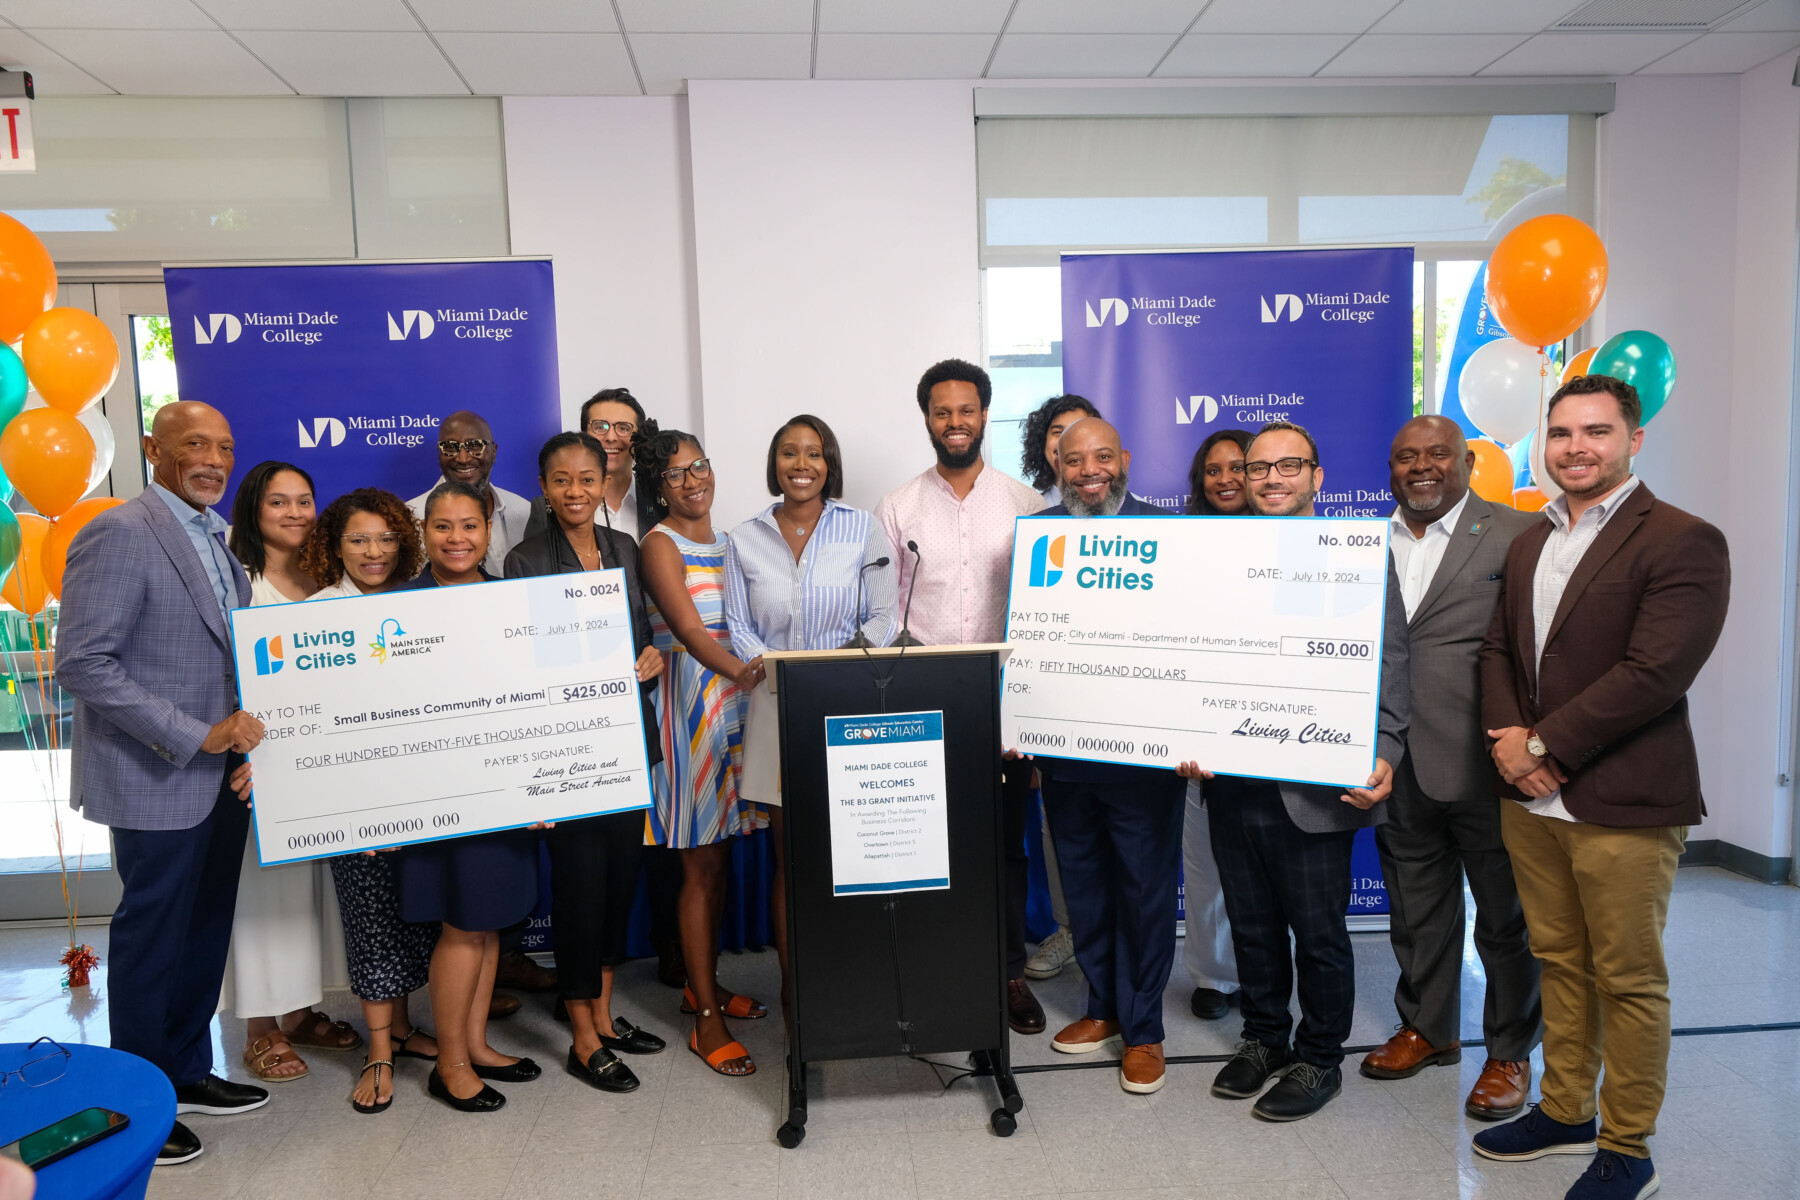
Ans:
[{"label": "wide white wall section directly above the woman at the podium", "polygon": [[970,85],[691,83],[688,104],[715,518],[769,504],[763,453],[797,412],[871,507],[932,461],[918,376],[979,362]]}]

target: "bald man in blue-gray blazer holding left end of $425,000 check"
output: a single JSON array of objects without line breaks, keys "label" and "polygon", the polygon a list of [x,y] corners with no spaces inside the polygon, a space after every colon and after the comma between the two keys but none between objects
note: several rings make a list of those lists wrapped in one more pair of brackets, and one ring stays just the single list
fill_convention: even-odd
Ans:
[{"label": "bald man in blue-gray blazer holding left end of $425,000 check", "polygon": [[[144,457],[151,486],[68,547],[56,662],[76,698],[68,799],[112,826],[124,883],[108,941],[113,1049],[169,1076],[176,1114],[247,1112],[268,1092],[214,1076],[207,1033],[248,828],[243,756],[263,739],[238,709],[225,626],[250,581],[209,507],[230,477],[230,425],[207,405],[167,405]],[[176,1123],[157,1162],[198,1153]]]}]

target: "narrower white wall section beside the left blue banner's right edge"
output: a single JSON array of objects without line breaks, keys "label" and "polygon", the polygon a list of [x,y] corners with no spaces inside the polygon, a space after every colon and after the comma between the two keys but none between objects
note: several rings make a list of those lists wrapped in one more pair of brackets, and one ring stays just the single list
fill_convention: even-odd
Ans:
[{"label": "narrower white wall section beside the left blue banner's right edge", "polygon": [[508,97],[513,254],[556,261],[565,426],[603,387],[700,423],[688,99]]}]

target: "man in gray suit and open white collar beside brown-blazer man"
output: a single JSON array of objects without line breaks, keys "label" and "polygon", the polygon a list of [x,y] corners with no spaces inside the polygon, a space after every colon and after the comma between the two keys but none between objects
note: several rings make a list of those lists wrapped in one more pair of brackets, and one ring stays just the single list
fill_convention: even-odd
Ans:
[{"label": "man in gray suit and open white collar beside brown-blazer man", "polygon": [[1499,1121],[1525,1108],[1532,1047],[1543,1036],[1537,959],[1512,860],[1499,835],[1494,768],[1481,732],[1478,651],[1494,622],[1507,547],[1543,520],[1469,491],[1474,453],[1449,417],[1413,417],[1388,453],[1390,545],[1411,635],[1420,703],[1393,775],[1388,824],[1375,831],[1388,880],[1388,937],[1400,961],[1400,1027],[1363,1060],[1373,1079],[1406,1079],[1462,1061],[1463,873],[1474,945],[1487,970],[1487,1063],[1463,1108]]}]

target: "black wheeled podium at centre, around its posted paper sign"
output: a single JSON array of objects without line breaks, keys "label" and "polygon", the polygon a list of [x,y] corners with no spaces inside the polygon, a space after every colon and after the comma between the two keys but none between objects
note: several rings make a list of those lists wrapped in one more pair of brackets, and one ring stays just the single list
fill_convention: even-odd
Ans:
[{"label": "black wheeled podium at centre, around its posted paper sign", "polygon": [[[1006,1025],[1001,856],[1001,662],[1006,646],[769,653],[781,714],[788,972],[788,1112],[806,1135],[806,1063],[967,1051],[1001,1094],[1006,1137],[1024,1108]],[[950,887],[833,894],[828,716],[943,712]]]}]

